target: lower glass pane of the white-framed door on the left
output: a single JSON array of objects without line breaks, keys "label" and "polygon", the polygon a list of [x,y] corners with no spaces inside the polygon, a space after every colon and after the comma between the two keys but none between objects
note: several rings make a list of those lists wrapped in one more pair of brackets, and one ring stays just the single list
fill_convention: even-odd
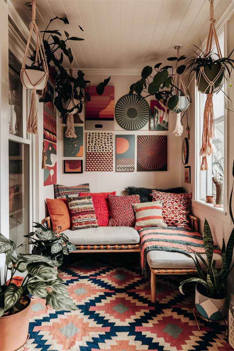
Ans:
[{"label": "lower glass pane of the white-framed door on the left", "polygon": [[[9,238],[16,246],[27,243],[28,145],[9,140]],[[28,245],[18,252],[27,253]]]}]

